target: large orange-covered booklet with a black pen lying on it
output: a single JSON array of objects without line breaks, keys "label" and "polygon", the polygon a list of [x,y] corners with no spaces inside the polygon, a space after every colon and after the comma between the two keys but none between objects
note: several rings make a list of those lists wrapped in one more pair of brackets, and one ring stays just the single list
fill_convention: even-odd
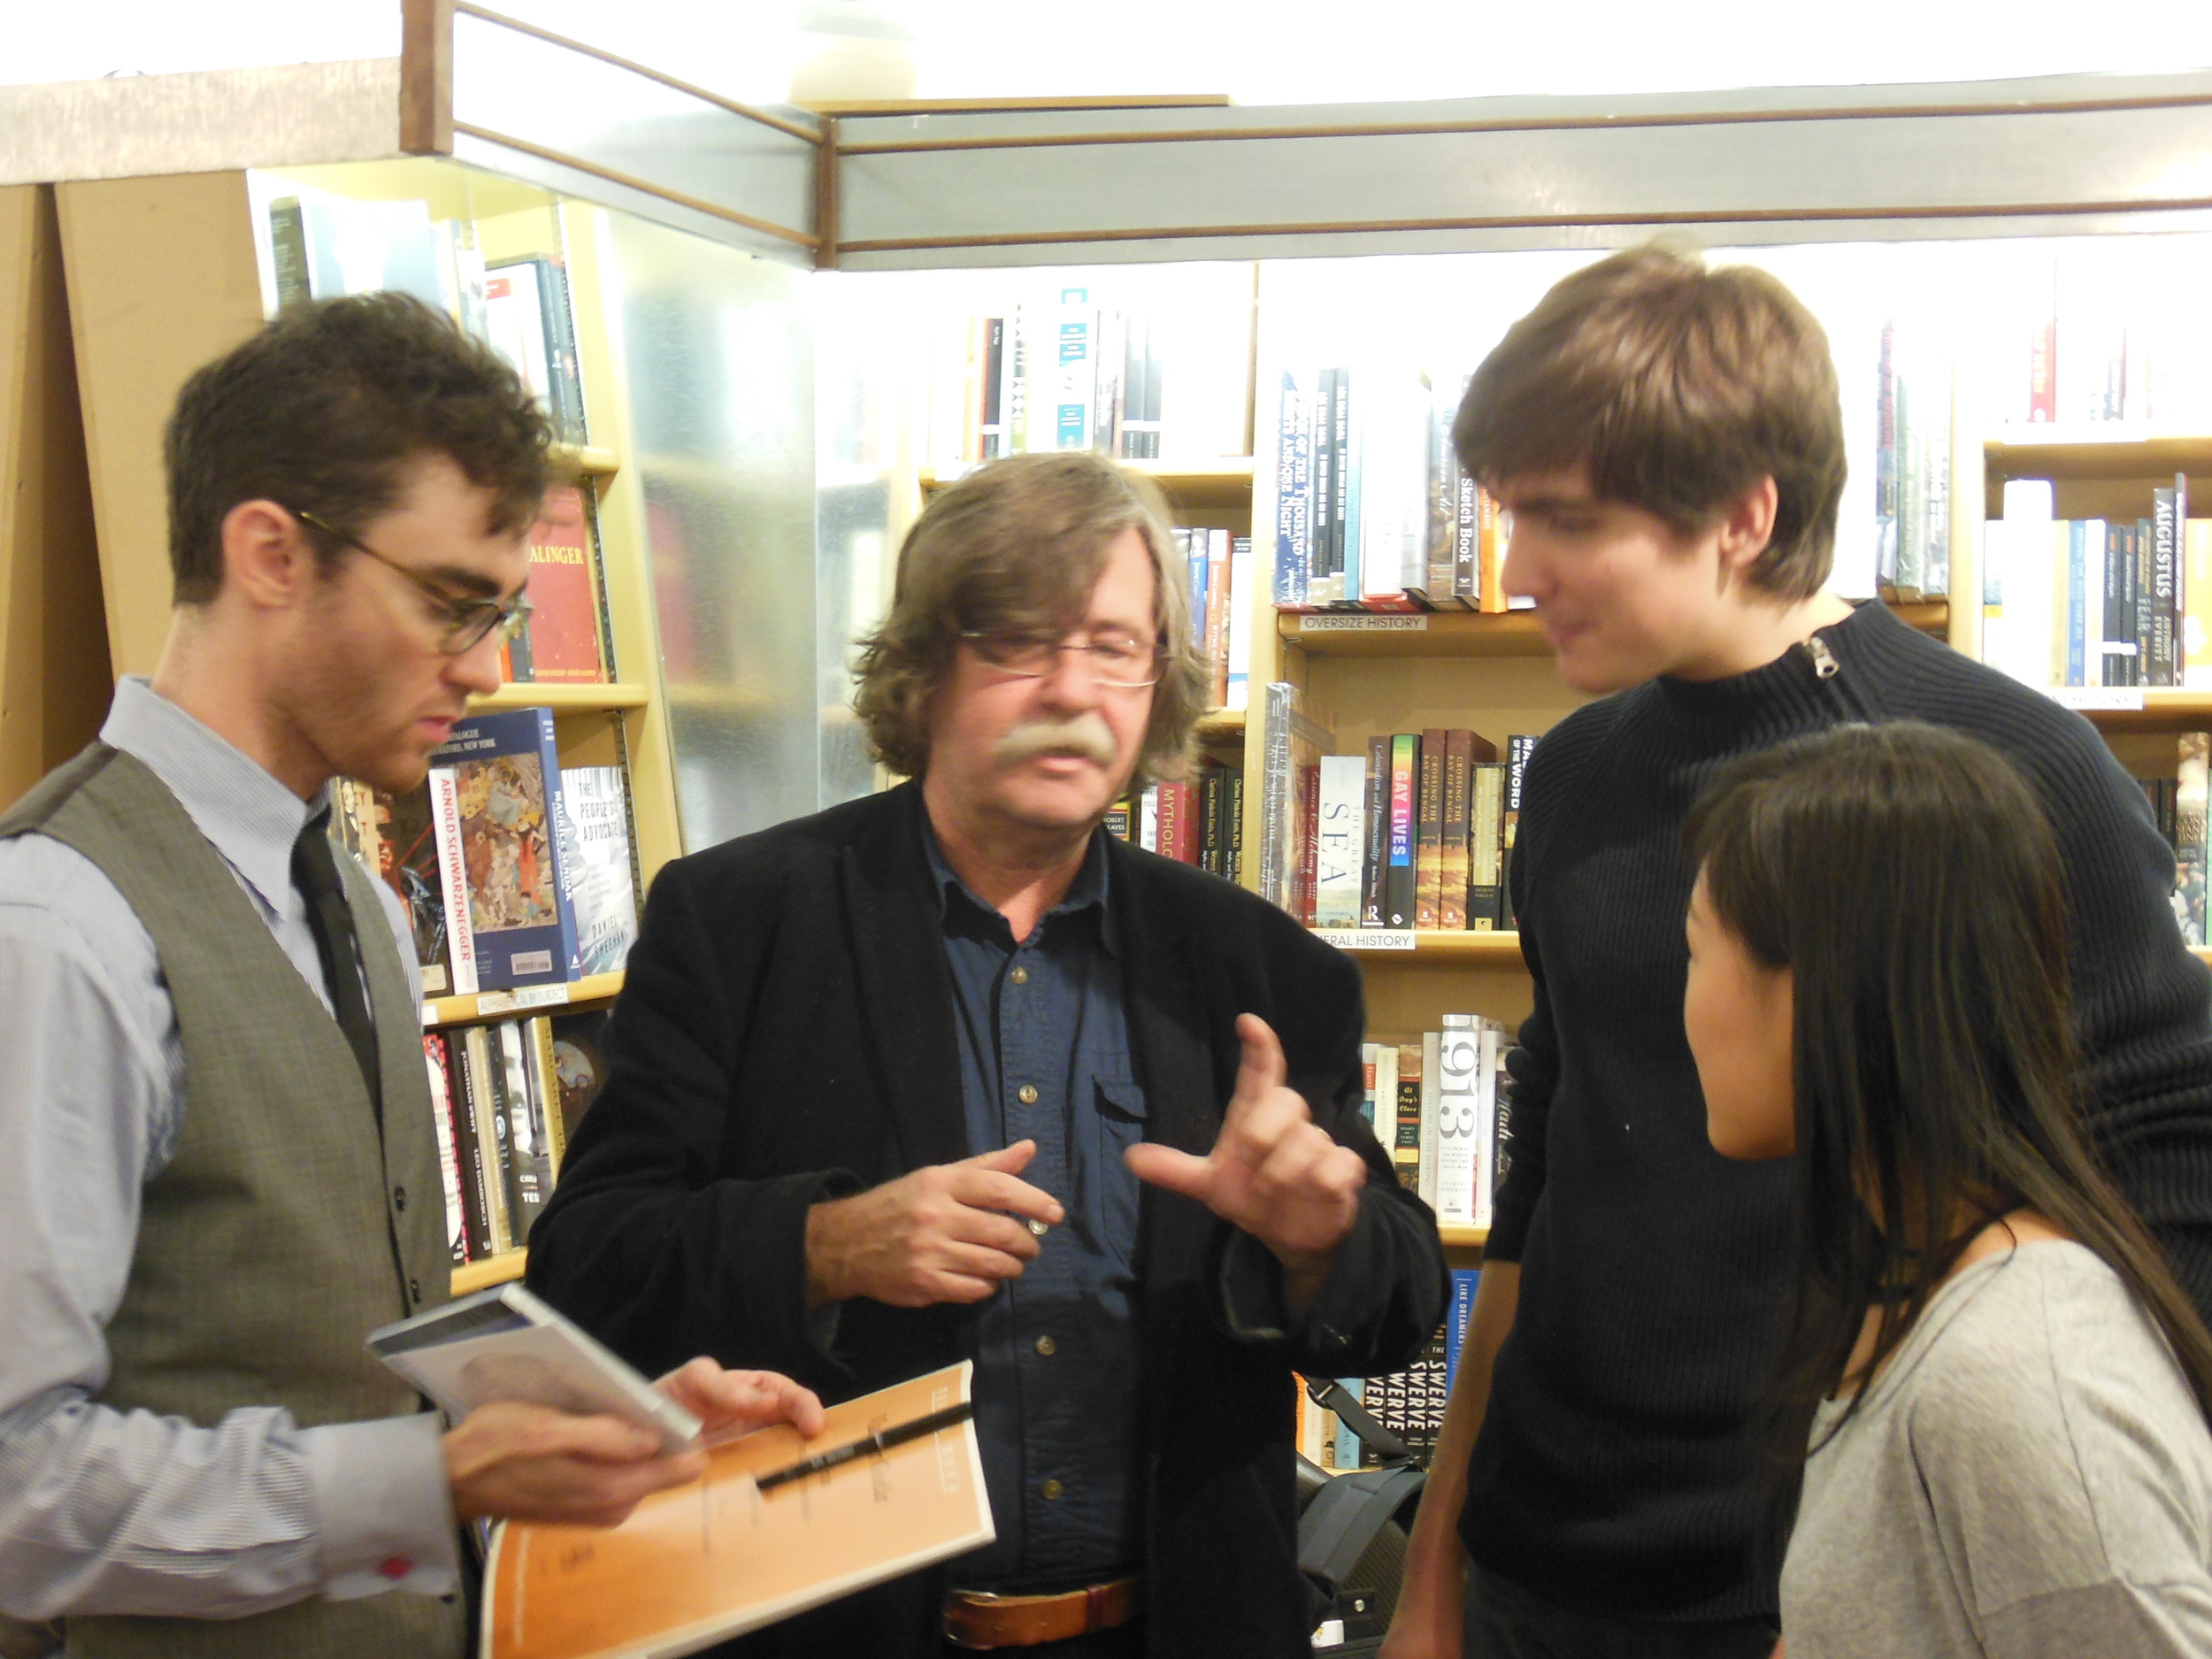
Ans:
[{"label": "large orange-covered booklet with a black pen lying on it", "polygon": [[710,1444],[699,1484],[655,1493],[611,1531],[500,1526],[484,1659],[697,1652],[989,1544],[960,1409],[971,1374],[951,1365],[834,1405],[814,1440],[776,1425]]}]

